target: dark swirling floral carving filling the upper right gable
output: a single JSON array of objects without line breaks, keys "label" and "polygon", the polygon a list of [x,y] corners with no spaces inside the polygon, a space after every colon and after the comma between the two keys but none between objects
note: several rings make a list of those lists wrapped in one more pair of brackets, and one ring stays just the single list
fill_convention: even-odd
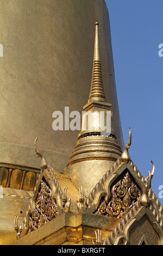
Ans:
[{"label": "dark swirling floral carving filling the upper right gable", "polygon": [[103,200],[96,214],[123,218],[141,197],[139,188],[131,180],[129,173],[112,187],[109,202]]}]

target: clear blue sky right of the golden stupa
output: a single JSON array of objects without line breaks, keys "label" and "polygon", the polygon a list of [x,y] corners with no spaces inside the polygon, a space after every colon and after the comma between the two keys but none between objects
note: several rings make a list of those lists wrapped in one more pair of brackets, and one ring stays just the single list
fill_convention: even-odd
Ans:
[{"label": "clear blue sky right of the golden stupa", "polygon": [[112,51],[121,124],[126,145],[132,131],[131,160],[146,177],[152,170],[152,190],[163,196],[163,44],[162,0],[105,0],[108,5]]}]

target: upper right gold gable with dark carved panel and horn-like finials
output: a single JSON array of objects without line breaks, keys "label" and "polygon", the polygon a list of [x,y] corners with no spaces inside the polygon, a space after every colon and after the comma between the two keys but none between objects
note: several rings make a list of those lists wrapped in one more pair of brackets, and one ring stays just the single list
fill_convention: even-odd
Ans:
[{"label": "upper right gold gable with dark carved panel and horn-like finials", "polygon": [[151,190],[152,172],[146,178],[140,174],[130,160],[128,149],[131,145],[131,131],[122,156],[116,161],[86,198],[86,211],[98,215],[123,218],[139,200],[148,206],[153,202],[162,214],[162,206]]}]

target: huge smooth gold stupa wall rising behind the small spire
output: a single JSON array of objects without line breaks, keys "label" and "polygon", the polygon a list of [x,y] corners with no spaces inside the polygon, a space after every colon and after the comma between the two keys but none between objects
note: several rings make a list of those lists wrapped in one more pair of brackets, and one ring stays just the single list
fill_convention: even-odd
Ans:
[{"label": "huge smooth gold stupa wall rising behind the small spire", "polygon": [[0,162],[39,167],[38,136],[48,162],[66,167],[79,131],[53,131],[52,113],[65,106],[82,113],[87,103],[96,21],[106,100],[123,147],[104,0],[0,0]]}]

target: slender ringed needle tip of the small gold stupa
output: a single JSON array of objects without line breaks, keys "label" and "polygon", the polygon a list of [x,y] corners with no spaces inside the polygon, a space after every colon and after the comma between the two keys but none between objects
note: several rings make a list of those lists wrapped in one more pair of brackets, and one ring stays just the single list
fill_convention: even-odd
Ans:
[{"label": "slender ringed needle tip of the small gold stupa", "polygon": [[101,62],[99,59],[99,38],[98,38],[98,22],[95,23],[95,48],[93,58],[92,82],[89,101],[98,100],[105,102],[105,94],[102,80]]}]

